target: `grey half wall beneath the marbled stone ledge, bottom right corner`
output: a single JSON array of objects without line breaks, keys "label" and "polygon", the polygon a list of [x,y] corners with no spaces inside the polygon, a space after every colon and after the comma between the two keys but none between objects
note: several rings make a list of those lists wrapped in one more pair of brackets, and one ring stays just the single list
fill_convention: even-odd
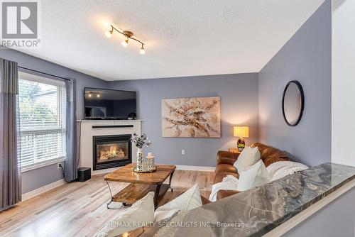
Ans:
[{"label": "grey half wall beneath the marbled stone ledge, bottom right corner", "polygon": [[354,199],[355,188],[353,187],[283,236],[355,236]]}]

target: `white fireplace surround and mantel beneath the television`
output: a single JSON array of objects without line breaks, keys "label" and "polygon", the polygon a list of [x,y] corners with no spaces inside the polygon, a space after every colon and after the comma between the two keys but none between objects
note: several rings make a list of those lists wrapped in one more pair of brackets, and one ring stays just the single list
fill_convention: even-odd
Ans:
[{"label": "white fireplace surround and mantel beneath the television", "polygon": [[[77,121],[78,131],[80,131],[80,157],[78,167],[89,167],[92,170],[92,137],[93,136],[107,136],[107,135],[124,135],[124,134],[141,134],[141,120],[82,120]],[[81,126],[80,126],[81,123]],[[93,128],[93,126],[133,126],[131,128]],[[80,129],[81,128],[81,129]],[[78,136],[79,137],[79,136]],[[137,148],[132,145],[132,162],[136,162]],[[104,172],[111,172],[115,168],[104,170],[92,170],[92,175],[97,175]]]}]

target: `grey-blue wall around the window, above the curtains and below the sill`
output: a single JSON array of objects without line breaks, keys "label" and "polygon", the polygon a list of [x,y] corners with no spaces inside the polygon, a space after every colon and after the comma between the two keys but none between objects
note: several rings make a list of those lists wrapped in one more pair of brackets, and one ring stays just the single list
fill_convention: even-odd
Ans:
[{"label": "grey-blue wall around the window, above the curtains and below the sill", "polygon": [[[0,50],[0,57],[18,62],[18,65],[40,72],[47,72],[60,77],[77,79],[77,118],[84,118],[84,87],[107,87],[107,82],[96,77],[84,75],[67,67],[41,60],[38,57],[26,55],[16,50]],[[41,167],[22,173],[22,192],[30,192],[46,184],[62,179],[62,173],[57,169],[57,164]]]}]

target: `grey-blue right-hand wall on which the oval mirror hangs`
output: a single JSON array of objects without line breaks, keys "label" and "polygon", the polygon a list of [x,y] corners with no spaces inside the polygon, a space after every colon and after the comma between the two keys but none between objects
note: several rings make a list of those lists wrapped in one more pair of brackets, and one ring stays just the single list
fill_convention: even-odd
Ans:
[{"label": "grey-blue right-hand wall on which the oval mirror hangs", "polygon": [[[325,1],[259,72],[259,140],[288,151],[307,165],[331,161],[332,6]],[[283,121],[285,85],[298,80],[305,91],[299,125]]]}]

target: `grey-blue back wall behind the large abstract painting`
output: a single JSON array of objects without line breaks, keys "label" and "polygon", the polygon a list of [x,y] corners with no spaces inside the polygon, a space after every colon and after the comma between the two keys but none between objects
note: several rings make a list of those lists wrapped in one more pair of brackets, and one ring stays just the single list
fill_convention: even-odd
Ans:
[{"label": "grey-blue back wall behind the large abstract painting", "polygon": [[[153,141],[151,148],[160,163],[214,166],[217,150],[236,147],[233,126],[250,126],[250,144],[258,140],[258,74],[212,75],[168,79],[109,82],[111,89],[138,92],[138,118],[142,131]],[[163,138],[161,99],[221,97],[222,138]],[[185,155],[181,155],[181,150]]]}]

